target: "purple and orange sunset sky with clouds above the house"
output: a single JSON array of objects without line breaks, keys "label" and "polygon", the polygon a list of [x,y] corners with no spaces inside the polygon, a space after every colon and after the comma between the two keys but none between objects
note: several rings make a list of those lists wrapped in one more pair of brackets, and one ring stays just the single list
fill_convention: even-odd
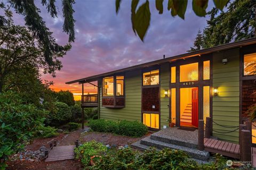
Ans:
[{"label": "purple and orange sunset sky with clouds above the house", "polygon": [[[39,4],[41,1],[36,1]],[[145,2],[144,0],[140,2]],[[81,85],[65,84],[67,81],[88,77],[90,75],[122,69],[163,58],[165,54],[173,56],[186,53],[193,46],[198,29],[206,25],[204,17],[198,17],[192,11],[192,1],[188,1],[185,20],[172,17],[164,1],[164,13],[158,14],[155,1],[150,2],[151,22],[145,43],[135,36],[131,26],[131,1],[123,0],[118,15],[115,13],[115,1],[76,1],[74,4],[75,43],[73,48],[61,59],[63,68],[57,71],[57,77],[42,75],[43,80],[54,81],[51,88],[59,91],[70,90],[79,95]],[[51,18],[41,6],[41,12],[47,27],[53,32],[57,43],[65,45],[68,41],[62,32],[61,1],[58,18]],[[207,11],[213,4],[209,1]],[[21,15],[14,14],[14,21],[23,23]],[[85,92],[96,92],[91,85],[86,85]]]}]

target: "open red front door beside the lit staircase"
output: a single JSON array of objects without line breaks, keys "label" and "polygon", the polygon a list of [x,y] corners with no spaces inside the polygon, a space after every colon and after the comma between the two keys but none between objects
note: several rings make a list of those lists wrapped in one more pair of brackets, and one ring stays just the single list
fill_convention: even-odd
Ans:
[{"label": "open red front door beside the lit staircase", "polygon": [[198,88],[192,90],[192,125],[198,127]]}]

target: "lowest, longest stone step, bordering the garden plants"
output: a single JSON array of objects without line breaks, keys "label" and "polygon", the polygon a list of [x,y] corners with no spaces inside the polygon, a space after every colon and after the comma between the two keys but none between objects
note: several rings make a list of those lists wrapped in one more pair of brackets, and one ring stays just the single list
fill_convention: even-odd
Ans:
[{"label": "lowest, longest stone step, bordering the garden plants", "polygon": [[[144,139],[140,140],[140,146],[148,146],[148,147],[156,147],[157,149],[163,149],[163,148],[171,148],[171,149],[177,149],[177,150],[182,150],[185,151],[190,157],[199,159],[199,160],[207,160],[210,157],[209,152],[207,151],[200,151],[194,148],[189,148],[189,147],[183,147],[179,145],[173,145],[171,143],[165,143],[157,140],[152,140],[150,137],[146,137]],[[138,146],[139,147],[139,146]],[[146,148],[146,147],[144,147]]]}]

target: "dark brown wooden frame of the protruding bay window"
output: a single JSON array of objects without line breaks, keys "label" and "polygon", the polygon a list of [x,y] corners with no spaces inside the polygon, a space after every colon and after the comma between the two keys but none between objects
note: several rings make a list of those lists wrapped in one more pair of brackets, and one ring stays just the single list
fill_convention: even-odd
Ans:
[{"label": "dark brown wooden frame of the protruding bay window", "polygon": [[[116,95],[116,77],[118,77],[118,76],[123,76],[124,78],[122,79],[123,80],[123,83],[124,83],[124,85],[123,85],[123,95],[122,96],[117,96]],[[104,84],[103,84],[103,79],[105,79],[105,78],[108,78],[108,77],[113,77],[114,78],[114,95],[113,96],[103,96],[103,86],[104,86]],[[102,107],[111,107],[111,108],[124,108],[125,107],[125,75],[124,74],[113,74],[113,75],[108,75],[107,77],[103,77],[102,79],[102,87],[101,87],[101,89],[102,89],[102,92],[101,92],[101,97],[102,97],[102,100],[101,100],[101,106]],[[121,80],[121,79],[119,79],[119,80]],[[113,100],[113,102],[114,102],[114,104],[113,105],[103,105],[103,99],[110,99],[110,100]],[[123,99],[124,100],[124,105],[116,105],[116,101],[118,100],[118,99]]]}]

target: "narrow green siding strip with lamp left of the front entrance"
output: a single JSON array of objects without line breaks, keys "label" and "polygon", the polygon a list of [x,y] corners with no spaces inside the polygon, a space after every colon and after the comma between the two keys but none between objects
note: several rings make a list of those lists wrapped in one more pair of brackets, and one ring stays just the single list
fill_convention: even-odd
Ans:
[{"label": "narrow green siding strip with lamp left of the front entrance", "polygon": [[[169,90],[170,88],[170,66],[169,63],[162,64],[160,67],[160,113],[161,113],[161,129],[163,126],[169,126],[167,122],[167,118],[169,117],[169,105],[170,105],[170,97],[165,97],[164,91]],[[170,93],[170,91],[169,91]]]}]

